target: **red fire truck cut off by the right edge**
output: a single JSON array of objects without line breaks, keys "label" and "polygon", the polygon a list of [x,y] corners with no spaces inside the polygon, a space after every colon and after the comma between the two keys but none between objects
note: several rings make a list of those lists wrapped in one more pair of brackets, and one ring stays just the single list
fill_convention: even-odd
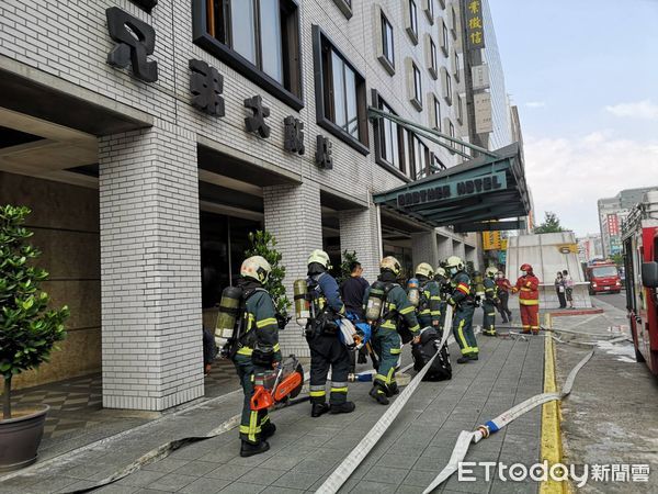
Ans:
[{"label": "red fire truck cut off by the right edge", "polygon": [[658,191],[646,192],[633,209],[622,242],[635,357],[658,375]]}]

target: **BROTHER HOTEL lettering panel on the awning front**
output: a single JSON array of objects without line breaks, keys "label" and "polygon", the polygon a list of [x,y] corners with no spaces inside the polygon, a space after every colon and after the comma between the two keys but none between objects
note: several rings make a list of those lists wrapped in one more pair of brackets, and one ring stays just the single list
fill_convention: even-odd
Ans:
[{"label": "BROTHER HOTEL lettering panel on the awning front", "polygon": [[507,189],[507,179],[504,171],[501,171],[473,179],[443,182],[418,191],[400,192],[397,197],[397,203],[400,207],[413,206],[504,189]]}]

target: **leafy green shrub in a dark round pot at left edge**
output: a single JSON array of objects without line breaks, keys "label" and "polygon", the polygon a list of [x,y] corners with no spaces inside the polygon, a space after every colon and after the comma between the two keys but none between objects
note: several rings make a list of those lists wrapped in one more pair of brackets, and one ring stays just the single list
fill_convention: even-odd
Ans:
[{"label": "leafy green shrub in a dark round pot at left edge", "polygon": [[0,471],[16,470],[36,461],[47,405],[12,409],[14,375],[48,360],[55,344],[65,338],[69,310],[48,310],[48,294],[39,290],[48,273],[33,266],[41,252],[27,243],[33,235],[23,226],[29,207],[0,205],[0,374],[4,379],[0,419]]}]

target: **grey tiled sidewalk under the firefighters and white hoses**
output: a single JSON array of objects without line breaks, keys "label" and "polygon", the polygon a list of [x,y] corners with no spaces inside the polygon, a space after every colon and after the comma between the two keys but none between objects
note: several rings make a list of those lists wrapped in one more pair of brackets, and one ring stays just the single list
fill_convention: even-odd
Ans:
[{"label": "grey tiled sidewalk under the firefighters and white hoses", "polygon": [[[477,363],[453,363],[451,381],[422,383],[379,444],[341,492],[422,492],[447,462],[463,429],[494,418],[542,392],[544,338],[529,340],[479,337]],[[453,362],[458,350],[451,348]],[[409,356],[406,355],[406,360]],[[350,385],[356,412],[311,418],[309,405],[275,412],[279,429],[272,449],[240,458],[236,430],[185,447],[169,458],[99,492],[115,493],[299,493],[315,491],[386,409],[368,396],[368,383]],[[0,492],[68,492],[89,486],[140,454],[173,438],[205,434],[239,412],[241,396],[230,394],[172,417],[156,420],[106,444],[69,454],[0,483]],[[540,456],[541,408],[476,445],[467,461],[534,463]],[[64,461],[66,460],[66,461]],[[478,478],[483,471],[474,472]],[[457,482],[443,492],[535,492],[536,484]]]}]

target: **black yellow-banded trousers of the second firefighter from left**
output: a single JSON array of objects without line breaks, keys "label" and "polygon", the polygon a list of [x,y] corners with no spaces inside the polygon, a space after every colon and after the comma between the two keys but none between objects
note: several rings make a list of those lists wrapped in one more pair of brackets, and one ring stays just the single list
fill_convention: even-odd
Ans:
[{"label": "black yellow-banded trousers of the second firefighter from left", "polygon": [[327,375],[331,369],[331,393],[329,403],[340,405],[348,400],[348,374],[351,359],[348,348],[336,335],[316,335],[308,340],[310,348],[310,383],[311,403],[327,401]]}]

